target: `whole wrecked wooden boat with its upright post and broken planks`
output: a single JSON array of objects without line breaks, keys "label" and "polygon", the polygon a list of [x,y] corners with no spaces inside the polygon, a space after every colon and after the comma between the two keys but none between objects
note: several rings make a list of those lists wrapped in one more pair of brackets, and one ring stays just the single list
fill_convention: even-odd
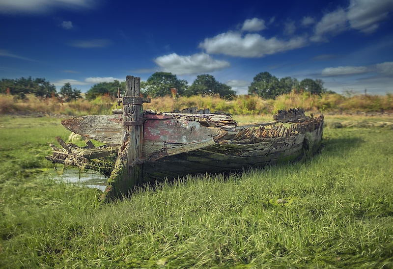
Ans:
[{"label": "whole wrecked wooden boat with its upright post and broken planks", "polygon": [[[93,169],[109,176],[102,199],[121,197],[135,186],[187,174],[236,172],[310,156],[318,150],[323,115],[302,109],[279,111],[274,121],[238,125],[230,115],[142,110],[139,78],[127,76],[123,110],[114,115],[62,121],[85,138],[79,148],[57,138],[49,161]],[[121,113],[121,114],[118,114]],[[95,148],[89,139],[104,146]]]}]

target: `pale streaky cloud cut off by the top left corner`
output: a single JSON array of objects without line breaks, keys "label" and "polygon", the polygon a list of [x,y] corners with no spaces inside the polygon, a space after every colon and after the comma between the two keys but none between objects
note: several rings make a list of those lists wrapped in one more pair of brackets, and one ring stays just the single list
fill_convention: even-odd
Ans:
[{"label": "pale streaky cloud cut off by the top left corner", "polygon": [[45,13],[55,7],[92,8],[95,0],[0,0],[0,13]]}]

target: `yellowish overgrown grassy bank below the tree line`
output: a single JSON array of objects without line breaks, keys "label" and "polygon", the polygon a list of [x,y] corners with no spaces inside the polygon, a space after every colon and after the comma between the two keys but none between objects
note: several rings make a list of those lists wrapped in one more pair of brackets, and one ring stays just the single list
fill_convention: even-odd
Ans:
[{"label": "yellowish overgrown grassy bank below the tree line", "polygon": [[[358,111],[392,111],[393,95],[312,95],[309,92],[283,94],[275,100],[264,100],[255,95],[239,95],[232,100],[219,96],[191,96],[173,99],[172,97],[153,98],[145,103],[144,109],[173,111],[183,108],[210,108],[212,112],[224,111],[233,115],[260,115],[277,113],[279,109],[304,108],[314,112],[358,112]],[[115,99],[100,96],[89,102],[84,99],[63,103],[58,99],[39,99],[27,95],[25,100],[17,100],[9,95],[0,95],[0,114],[6,113],[55,113],[66,115],[111,114],[115,108]]]}]

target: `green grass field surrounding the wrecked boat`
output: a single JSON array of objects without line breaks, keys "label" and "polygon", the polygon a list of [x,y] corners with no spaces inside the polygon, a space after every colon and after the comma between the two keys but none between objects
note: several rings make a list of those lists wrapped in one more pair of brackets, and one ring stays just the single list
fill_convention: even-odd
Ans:
[{"label": "green grass field surrounding the wrecked boat", "polygon": [[391,125],[329,128],[393,117],[325,119],[310,160],[100,204],[48,176],[60,120],[2,116],[0,268],[393,268]]}]

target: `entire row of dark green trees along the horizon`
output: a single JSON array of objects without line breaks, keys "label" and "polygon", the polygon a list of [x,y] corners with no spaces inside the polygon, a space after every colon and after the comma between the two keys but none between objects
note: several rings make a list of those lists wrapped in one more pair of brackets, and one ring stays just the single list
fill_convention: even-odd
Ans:
[{"label": "entire row of dark green trees along the horizon", "polygon": [[[140,83],[141,94],[145,97],[162,96],[192,96],[192,95],[219,95],[225,99],[236,96],[236,91],[225,83],[217,81],[209,74],[198,75],[191,84],[186,80],[180,80],[176,75],[168,72],[156,72],[147,81]],[[94,84],[85,94],[87,100],[94,100],[98,96],[117,96],[117,90],[124,93],[125,81],[100,82]],[[277,96],[291,91],[307,91],[312,94],[322,94],[326,92],[323,81],[316,79],[304,79],[298,81],[295,78],[277,78],[269,72],[261,72],[253,78],[253,82],[248,87],[249,94],[258,95],[264,99],[275,99]],[[81,90],[72,88],[70,83],[65,83],[56,92],[56,86],[45,79],[2,79],[0,81],[0,93],[16,95],[24,98],[26,94],[34,94],[38,97],[58,97],[65,102],[81,98]]]}]

